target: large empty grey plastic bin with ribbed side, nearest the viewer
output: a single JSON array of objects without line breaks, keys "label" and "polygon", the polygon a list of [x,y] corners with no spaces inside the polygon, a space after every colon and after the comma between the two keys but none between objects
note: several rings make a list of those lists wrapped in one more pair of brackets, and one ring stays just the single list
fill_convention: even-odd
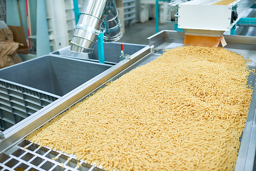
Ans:
[{"label": "large empty grey plastic bin with ribbed side, nearest the viewer", "polygon": [[8,129],[111,67],[46,55],[1,69],[0,129]]}]

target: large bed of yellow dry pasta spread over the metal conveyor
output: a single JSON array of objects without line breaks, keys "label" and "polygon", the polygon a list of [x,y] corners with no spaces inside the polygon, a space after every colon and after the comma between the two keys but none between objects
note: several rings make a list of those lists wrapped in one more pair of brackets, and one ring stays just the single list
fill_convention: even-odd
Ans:
[{"label": "large bed of yellow dry pasta spread over the metal conveyor", "polygon": [[252,90],[242,56],[183,46],[109,83],[27,137],[115,170],[232,170]]}]

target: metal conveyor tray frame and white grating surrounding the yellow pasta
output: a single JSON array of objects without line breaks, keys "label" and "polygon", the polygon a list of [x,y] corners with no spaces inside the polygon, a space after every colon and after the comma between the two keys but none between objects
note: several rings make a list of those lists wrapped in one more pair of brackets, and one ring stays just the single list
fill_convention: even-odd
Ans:
[{"label": "metal conveyor tray frame and white grating surrounding the yellow pasta", "polygon": [[[63,111],[66,111],[69,106],[83,100],[99,88],[104,87],[106,82],[113,81],[123,74],[154,60],[162,53],[163,49],[182,46],[182,36],[183,33],[162,31],[148,38],[150,40],[150,46],[154,45],[156,47],[154,54],[151,53],[151,48],[147,46],[134,54],[132,56],[132,60],[118,63],[115,67],[112,67],[110,70],[100,74],[94,80],[83,84],[61,99],[51,103],[49,106],[46,106],[46,108],[37,112],[34,117],[25,119],[20,122],[20,124],[15,125],[11,130],[5,132],[6,139],[0,143],[0,152],[2,152],[0,157],[0,168],[2,167],[2,170],[13,170],[16,167],[23,167],[26,168],[26,170],[102,170],[94,167],[93,165],[85,164],[82,160],[76,161],[75,156],[61,154],[59,151],[55,152],[54,149],[51,150],[47,147],[41,147],[38,149],[37,144],[32,144],[26,141],[24,137],[37,129],[40,125],[51,120],[51,118],[61,114]],[[249,64],[249,68],[256,69],[256,38],[243,36],[226,36],[225,38],[228,42],[227,49],[242,54],[244,58],[249,57],[249,59],[252,60]],[[255,75],[253,73],[251,73],[248,80],[249,84],[251,84],[250,81],[252,81],[254,87]],[[254,126],[254,119],[256,119],[254,117],[255,106],[256,91],[254,91],[252,95],[245,131],[241,140],[241,147],[238,156],[239,165],[236,167],[237,170],[253,169],[256,146],[256,129]],[[27,146],[27,148],[23,149],[25,146]],[[54,157],[58,157],[59,159],[52,160]],[[67,159],[69,157],[71,158],[71,161],[67,163]],[[65,169],[62,168],[61,162],[65,165]],[[77,167],[77,162],[82,164],[82,168]],[[14,163],[14,165],[12,163]]]}]

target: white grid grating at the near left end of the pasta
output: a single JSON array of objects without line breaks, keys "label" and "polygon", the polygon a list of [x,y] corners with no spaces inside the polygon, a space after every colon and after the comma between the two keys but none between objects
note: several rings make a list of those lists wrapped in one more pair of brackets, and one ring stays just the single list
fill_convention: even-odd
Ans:
[{"label": "white grid grating at the near left end of the pasta", "polygon": [[[24,147],[27,146],[26,149]],[[25,168],[25,171],[34,170],[86,170],[102,171],[101,168],[86,164],[83,160],[76,160],[75,156],[63,154],[60,151],[51,150],[49,147],[38,148],[39,145],[25,139],[12,146],[6,153],[0,156],[0,169],[14,171],[15,168]],[[52,160],[52,158],[58,158]],[[70,161],[68,162],[68,158]],[[77,162],[82,166],[78,168]],[[62,163],[64,168],[62,167]]]}]

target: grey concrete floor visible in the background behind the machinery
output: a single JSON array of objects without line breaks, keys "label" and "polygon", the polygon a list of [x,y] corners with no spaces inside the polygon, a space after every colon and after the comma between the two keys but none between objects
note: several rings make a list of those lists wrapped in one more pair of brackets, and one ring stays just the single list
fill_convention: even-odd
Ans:
[{"label": "grey concrete floor visible in the background behind the machinery", "polygon": [[[243,17],[256,17],[256,9],[249,9]],[[159,25],[161,30],[174,30],[174,24]],[[125,34],[119,42],[127,42],[131,44],[148,45],[147,37],[155,34],[155,19],[145,23],[135,23],[131,27],[125,27]],[[224,33],[230,35],[230,31]],[[237,27],[236,35],[256,36],[256,27]]]}]

